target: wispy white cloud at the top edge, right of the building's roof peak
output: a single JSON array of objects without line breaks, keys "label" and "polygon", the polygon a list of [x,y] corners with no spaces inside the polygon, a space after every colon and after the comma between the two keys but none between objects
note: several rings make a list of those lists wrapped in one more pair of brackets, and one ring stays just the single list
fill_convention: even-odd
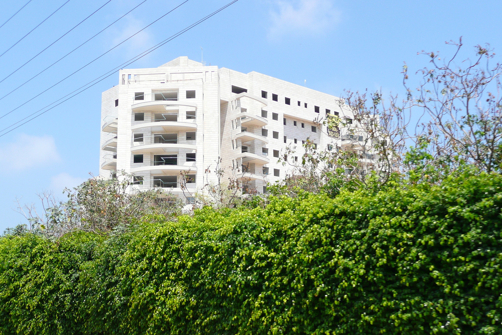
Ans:
[{"label": "wispy white cloud at the top edge, right of the building's roof peak", "polygon": [[333,29],[340,17],[332,0],[276,0],[274,7],[270,38],[322,34]]}]

